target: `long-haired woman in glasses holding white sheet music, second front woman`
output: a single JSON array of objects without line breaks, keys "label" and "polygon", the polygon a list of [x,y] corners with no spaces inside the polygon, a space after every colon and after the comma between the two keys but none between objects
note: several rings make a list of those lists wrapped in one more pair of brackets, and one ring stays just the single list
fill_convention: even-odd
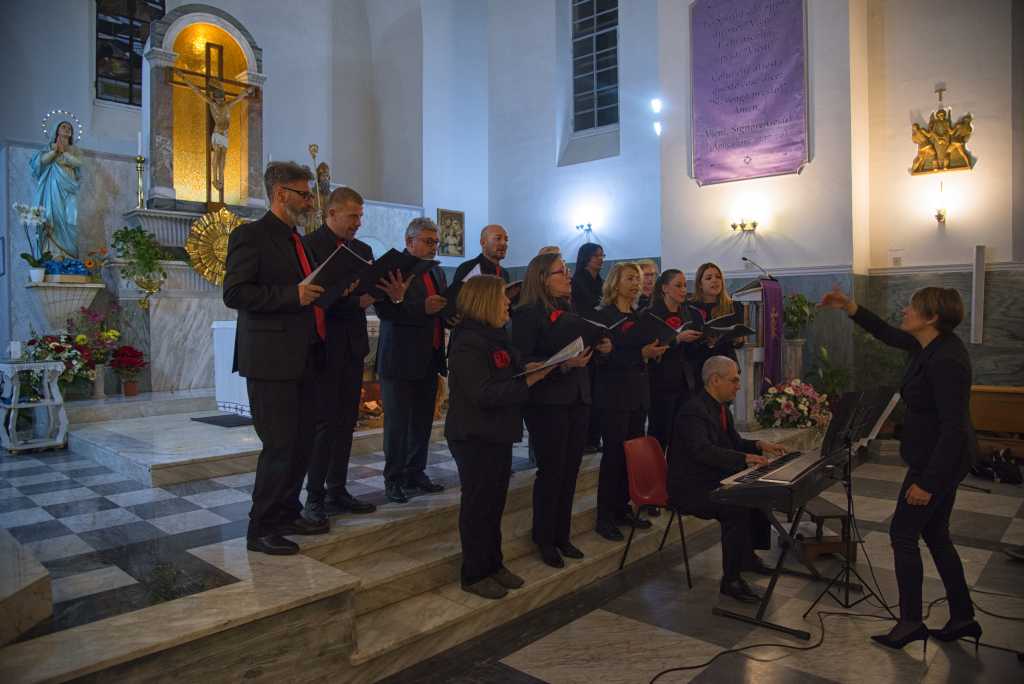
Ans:
[{"label": "long-haired woman in glasses holding white sheet music, second front woman", "polygon": [[[581,336],[583,322],[571,311],[569,269],[560,255],[543,254],[529,262],[519,306],[512,312],[512,346],[527,361],[543,361]],[[607,339],[595,345],[611,351]],[[572,546],[570,527],[577,475],[583,460],[590,419],[592,351],[566,361],[529,390],[523,411],[537,456],[534,482],[534,543],[552,567],[566,558],[583,558]]]}]

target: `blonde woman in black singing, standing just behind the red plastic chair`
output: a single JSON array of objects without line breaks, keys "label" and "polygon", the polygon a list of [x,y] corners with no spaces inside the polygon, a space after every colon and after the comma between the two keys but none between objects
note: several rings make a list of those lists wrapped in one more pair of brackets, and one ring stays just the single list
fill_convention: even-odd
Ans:
[{"label": "blonde woman in black singing, standing just behind the red plastic chair", "polygon": [[640,335],[640,315],[634,305],[643,274],[635,263],[617,263],[601,293],[602,306],[595,318],[612,327],[612,350],[598,357],[594,405],[601,411],[604,453],[597,485],[597,533],[618,541],[617,525],[646,528],[650,522],[630,508],[629,479],[623,442],[643,434],[643,416],[650,405],[647,361],[669,348],[655,338]]}]

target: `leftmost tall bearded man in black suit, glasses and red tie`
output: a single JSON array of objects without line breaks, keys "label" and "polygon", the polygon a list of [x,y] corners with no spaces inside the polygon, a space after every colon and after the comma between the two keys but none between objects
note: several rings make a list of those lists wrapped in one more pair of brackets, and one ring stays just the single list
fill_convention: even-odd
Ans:
[{"label": "leftmost tall bearded man in black suit, glasses and red tie", "polygon": [[263,176],[270,211],[239,226],[227,241],[224,304],[237,309],[233,369],[246,378],[263,448],[256,465],[247,546],[295,554],[284,535],[318,535],[327,521],[301,516],[299,490],[312,447],[316,375],[326,327],[312,303],[324,289],[303,285],[311,262],[295,225],[313,208],[312,174],[293,162],[269,164]]}]

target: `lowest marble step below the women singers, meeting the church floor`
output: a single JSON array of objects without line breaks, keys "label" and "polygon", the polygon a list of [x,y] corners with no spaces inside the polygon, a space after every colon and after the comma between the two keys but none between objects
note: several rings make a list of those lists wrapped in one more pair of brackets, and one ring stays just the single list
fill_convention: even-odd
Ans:
[{"label": "lowest marble step below the women singers, meeting the church floor", "polygon": [[[631,563],[657,549],[668,519],[655,518],[650,529],[637,532]],[[684,526],[687,537],[692,537],[710,524],[688,517]],[[509,561],[509,569],[526,584],[501,600],[479,598],[453,582],[358,616],[356,648],[350,657],[357,670],[347,681],[377,681],[617,571],[623,542],[608,542],[588,530],[574,536],[572,543],[586,558],[567,561],[561,569],[544,564],[535,554]],[[666,547],[677,544],[678,533],[670,533]]]}]

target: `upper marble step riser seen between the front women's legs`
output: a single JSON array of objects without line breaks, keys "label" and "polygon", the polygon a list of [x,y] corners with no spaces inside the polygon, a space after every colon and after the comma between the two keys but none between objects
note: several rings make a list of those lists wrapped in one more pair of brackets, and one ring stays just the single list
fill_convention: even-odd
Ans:
[{"label": "upper marble step riser seen between the front women's legs", "polygon": [[[536,554],[530,539],[532,508],[506,513],[502,518],[502,555],[506,562]],[[573,502],[572,535],[594,528],[597,490],[578,493]],[[357,576],[355,612],[364,615],[459,580],[462,549],[458,528],[343,561],[340,570]]]}]

